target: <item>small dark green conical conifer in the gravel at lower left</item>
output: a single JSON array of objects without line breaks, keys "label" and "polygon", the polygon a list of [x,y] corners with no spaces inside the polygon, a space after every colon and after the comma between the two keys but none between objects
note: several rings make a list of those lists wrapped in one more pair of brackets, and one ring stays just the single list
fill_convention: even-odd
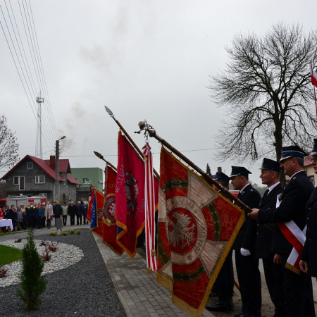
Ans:
[{"label": "small dark green conical conifer in the gravel at lower left", "polygon": [[16,294],[22,299],[27,311],[35,310],[42,304],[41,295],[47,281],[41,276],[44,262],[39,257],[34,242],[33,230],[29,230],[27,243],[22,250],[22,272],[20,274],[20,289]]}]

